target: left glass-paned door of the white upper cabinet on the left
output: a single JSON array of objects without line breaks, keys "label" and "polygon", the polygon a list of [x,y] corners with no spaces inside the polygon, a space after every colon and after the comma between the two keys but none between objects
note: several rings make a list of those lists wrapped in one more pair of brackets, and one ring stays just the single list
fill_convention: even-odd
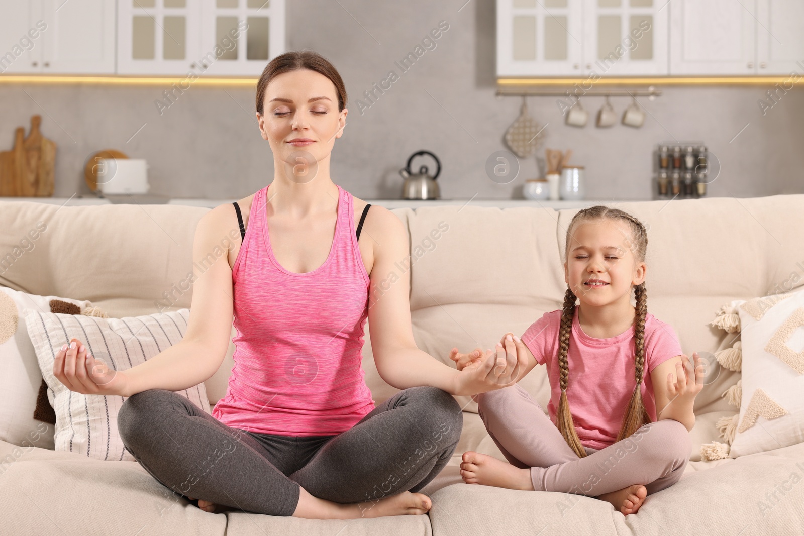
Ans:
[{"label": "left glass-paned door of the white upper cabinet on the left", "polygon": [[197,0],[118,0],[117,72],[198,73],[199,7]]}]

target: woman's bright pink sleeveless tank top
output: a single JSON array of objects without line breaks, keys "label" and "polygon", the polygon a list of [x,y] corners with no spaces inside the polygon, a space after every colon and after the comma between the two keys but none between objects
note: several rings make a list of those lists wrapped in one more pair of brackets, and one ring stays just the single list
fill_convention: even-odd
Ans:
[{"label": "woman's bright pink sleeveless tank top", "polygon": [[374,409],[360,366],[369,277],[352,196],[338,186],[324,264],[294,273],[273,255],[267,192],[265,186],[254,195],[232,268],[235,365],[212,416],[232,428],[281,436],[345,432]]}]

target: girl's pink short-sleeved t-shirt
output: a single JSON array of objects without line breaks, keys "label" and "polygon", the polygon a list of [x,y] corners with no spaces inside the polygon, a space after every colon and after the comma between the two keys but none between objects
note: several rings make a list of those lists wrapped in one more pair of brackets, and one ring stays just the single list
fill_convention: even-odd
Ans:
[{"label": "girl's pink short-sleeved t-shirt", "polygon": [[[548,413],[554,424],[561,398],[558,365],[560,323],[561,309],[544,313],[521,337],[539,365],[547,364],[551,387]],[[617,439],[634,392],[634,342],[633,325],[615,337],[589,337],[580,329],[576,306],[567,355],[567,401],[580,443],[586,447],[601,449]],[[646,374],[642,379],[642,400],[653,421],[656,420],[656,402],[650,373],[659,363],[681,353],[671,325],[648,313],[645,319]]]}]

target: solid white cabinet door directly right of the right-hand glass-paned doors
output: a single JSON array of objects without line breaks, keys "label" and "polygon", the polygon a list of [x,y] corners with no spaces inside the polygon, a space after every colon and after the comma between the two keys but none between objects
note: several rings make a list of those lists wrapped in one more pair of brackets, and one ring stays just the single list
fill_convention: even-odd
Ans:
[{"label": "solid white cabinet door directly right of the right-hand glass-paned doors", "polygon": [[757,0],[673,0],[670,8],[671,75],[757,72]]}]

